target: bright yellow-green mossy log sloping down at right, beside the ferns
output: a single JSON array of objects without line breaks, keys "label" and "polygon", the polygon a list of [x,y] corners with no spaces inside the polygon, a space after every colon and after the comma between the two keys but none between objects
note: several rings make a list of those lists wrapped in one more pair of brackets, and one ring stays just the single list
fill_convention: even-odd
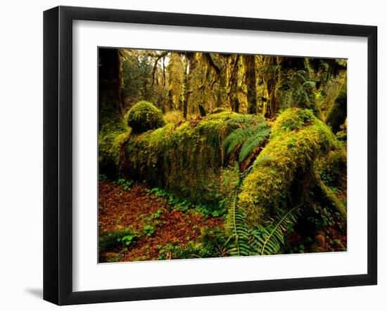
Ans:
[{"label": "bright yellow-green mossy log sloping down at right, beside the ferns", "polygon": [[[272,136],[243,180],[239,204],[251,223],[284,204],[296,174],[307,173],[315,159],[339,147],[328,126],[308,110],[289,109],[272,126]],[[304,185],[308,187],[308,185]]]}]

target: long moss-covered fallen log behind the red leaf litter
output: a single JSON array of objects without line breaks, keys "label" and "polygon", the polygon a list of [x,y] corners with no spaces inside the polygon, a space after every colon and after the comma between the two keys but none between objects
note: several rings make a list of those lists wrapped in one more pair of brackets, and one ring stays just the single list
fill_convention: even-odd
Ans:
[{"label": "long moss-covered fallen log behind the red leaf litter", "polygon": [[224,138],[242,124],[260,121],[262,117],[221,112],[132,135],[123,172],[179,197],[216,204],[222,199],[221,168],[232,161],[224,157]]}]

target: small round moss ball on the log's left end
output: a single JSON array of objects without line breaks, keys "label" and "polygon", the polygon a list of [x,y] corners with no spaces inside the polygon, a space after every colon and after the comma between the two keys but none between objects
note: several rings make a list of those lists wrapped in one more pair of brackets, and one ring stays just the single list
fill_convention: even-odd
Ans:
[{"label": "small round moss ball on the log's left end", "polygon": [[134,133],[143,133],[165,125],[163,112],[151,102],[137,102],[127,114],[127,125]]}]

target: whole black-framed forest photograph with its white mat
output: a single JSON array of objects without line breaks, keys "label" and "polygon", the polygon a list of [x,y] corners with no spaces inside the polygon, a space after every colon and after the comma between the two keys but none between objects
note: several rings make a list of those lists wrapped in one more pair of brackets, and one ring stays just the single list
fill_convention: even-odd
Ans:
[{"label": "whole black-framed forest photograph with its white mat", "polygon": [[44,12],[44,299],[377,283],[374,26]]}]

